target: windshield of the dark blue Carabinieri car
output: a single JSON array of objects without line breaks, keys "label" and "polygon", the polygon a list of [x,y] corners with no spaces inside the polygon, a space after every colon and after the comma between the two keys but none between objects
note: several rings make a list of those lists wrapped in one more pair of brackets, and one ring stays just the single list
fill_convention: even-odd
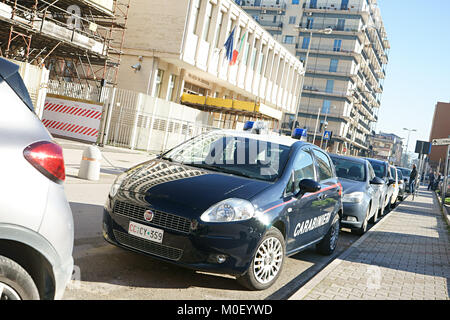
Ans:
[{"label": "windshield of the dark blue Carabinieri car", "polygon": [[161,158],[247,178],[275,181],[284,170],[290,150],[285,145],[216,132],[195,137]]}]

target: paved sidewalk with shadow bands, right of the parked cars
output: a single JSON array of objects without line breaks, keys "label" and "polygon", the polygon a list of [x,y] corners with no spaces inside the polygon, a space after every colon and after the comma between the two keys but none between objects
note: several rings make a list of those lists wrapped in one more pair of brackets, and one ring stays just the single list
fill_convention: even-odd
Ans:
[{"label": "paved sidewalk with shadow bands, right of the parked cars", "polygon": [[449,300],[449,232],[421,188],[290,300]]}]

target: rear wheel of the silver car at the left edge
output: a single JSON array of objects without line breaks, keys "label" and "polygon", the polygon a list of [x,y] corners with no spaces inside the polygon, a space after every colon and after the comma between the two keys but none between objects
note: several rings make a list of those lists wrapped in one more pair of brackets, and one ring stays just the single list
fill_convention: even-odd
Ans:
[{"label": "rear wheel of the silver car at the left edge", "polygon": [[0,300],[39,300],[31,276],[18,263],[0,256]]}]

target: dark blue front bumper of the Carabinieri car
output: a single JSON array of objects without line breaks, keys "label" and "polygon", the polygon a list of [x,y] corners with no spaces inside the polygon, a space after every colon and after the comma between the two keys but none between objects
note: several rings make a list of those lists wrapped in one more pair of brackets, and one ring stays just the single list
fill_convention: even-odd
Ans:
[{"label": "dark blue front bumper of the Carabinieri car", "polygon": [[[162,243],[129,234],[130,221],[164,230]],[[111,244],[195,270],[241,275],[248,269],[265,227],[256,220],[230,226],[198,223],[194,230],[180,232],[115,214],[108,206],[103,213],[103,237]],[[225,262],[219,263],[218,256],[225,256]]]}]

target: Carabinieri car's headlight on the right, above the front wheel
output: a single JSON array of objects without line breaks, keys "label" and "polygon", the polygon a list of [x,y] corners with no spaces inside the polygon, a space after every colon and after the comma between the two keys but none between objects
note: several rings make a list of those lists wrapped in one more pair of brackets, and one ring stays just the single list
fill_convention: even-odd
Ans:
[{"label": "Carabinieri car's headlight on the right, above the front wheel", "polygon": [[234,222],[248,220],[254,216],[255,208],[250,201],[231,198],[210,207],[200,219],[204,222]]}]

